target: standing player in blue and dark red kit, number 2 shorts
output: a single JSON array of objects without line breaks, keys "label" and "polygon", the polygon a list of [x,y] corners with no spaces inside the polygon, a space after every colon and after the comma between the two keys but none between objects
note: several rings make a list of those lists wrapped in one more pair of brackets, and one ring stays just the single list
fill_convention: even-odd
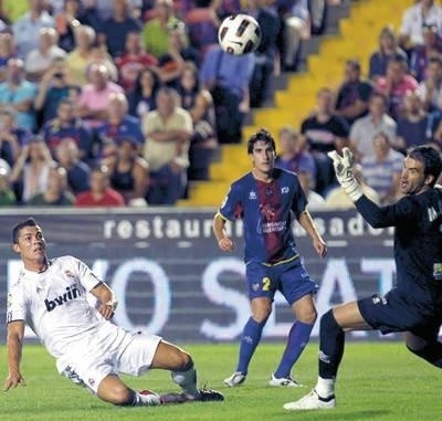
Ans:
[{"label": "standing player in blue and dark red kit, number 2 shorts", "polygon": [[307,200],[295,173],[274,167],[275,141],[261,129],[248,143],[252,171],[232,183],[213,219],[213,232],[220,249],[233,250],[225,233],[225,222],[239,218],[244,223],[246,282],[252,315],[245,324],[235,372],[224,380],[229,387],[241,385],[248,375],[262,329],[272,312],[276,291],[291,305],[296,322],[288,335],[287,346],[270,385],[299,386],[291,370],[308,343],[316,320],[313,296],[316,283],[309,277],[296,251],[292,233],[293,215],[312,238],[317,254],[324,257],[326,243],[318,233],[307,210]]}]

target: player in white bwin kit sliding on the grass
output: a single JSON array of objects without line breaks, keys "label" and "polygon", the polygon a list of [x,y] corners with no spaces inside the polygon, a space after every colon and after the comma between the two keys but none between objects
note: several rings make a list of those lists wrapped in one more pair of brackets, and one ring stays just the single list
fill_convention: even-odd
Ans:
[{"label": "player in white bwin kit sliding on the grass", "polygon": [[[82,261],[72,256],[49,260],[41,228],[31,218],[12,231],[13,250],[24,269],[8,294],[9,373],[3,390],[24,386],[20,370],[28,322],[61,375],[117,406],[157,406],[223,400],[214,390],[197,389],[192,358],[156,335],[128,331],[109,322],[117,307],[113,291]],[[87,293],[97,298],[91,306]],[[135,391],[118,375],[139,376],[148,369],[171,371],[180,393]]]}]

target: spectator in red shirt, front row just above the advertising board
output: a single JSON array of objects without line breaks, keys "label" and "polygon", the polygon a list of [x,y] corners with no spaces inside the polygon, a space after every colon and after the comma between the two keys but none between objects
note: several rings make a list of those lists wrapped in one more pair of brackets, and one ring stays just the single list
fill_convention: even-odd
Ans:
[{"label": "spectator in red shirt, front row just above the advertising board", "polygon": [[124,207],[124,198],[110,187],[109,171],[106,166],[94,167],[91,172],[91,189],[78,193],[76,207]]}]

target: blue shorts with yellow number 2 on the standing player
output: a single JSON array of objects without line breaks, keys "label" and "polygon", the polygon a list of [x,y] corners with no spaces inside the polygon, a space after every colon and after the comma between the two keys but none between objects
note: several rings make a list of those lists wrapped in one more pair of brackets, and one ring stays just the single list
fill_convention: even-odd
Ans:
[{"label": "blue shorts with yellow number 2 on the standing player", "polygon": [[273,301],[276,291],[280,291],[292,305],[304,295],[316,294],[318,290],[299,256],[274,265],[250,262],[245,266],[245,278],[250,299],[267,297]]}]

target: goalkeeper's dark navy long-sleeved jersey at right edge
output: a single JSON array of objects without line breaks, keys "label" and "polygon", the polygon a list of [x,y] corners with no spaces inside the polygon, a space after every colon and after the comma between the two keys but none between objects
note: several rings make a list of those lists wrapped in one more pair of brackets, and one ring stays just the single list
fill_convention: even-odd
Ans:
[{"label": "goalkeeper's dark navy long-sleeved jersey at right edge", "polygon": [[356,207],[372,227],[396,227],[398,292],[410,304],[441,312],[442,190],[406,196],[383,208],[362,196]]}]

